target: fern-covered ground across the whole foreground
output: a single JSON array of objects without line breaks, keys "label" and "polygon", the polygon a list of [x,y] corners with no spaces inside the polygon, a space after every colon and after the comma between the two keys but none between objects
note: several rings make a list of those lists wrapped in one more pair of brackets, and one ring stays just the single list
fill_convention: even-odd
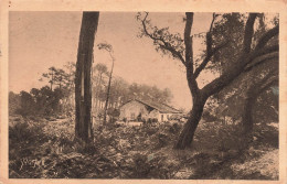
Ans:
[{"label": "fern-covered ground across the whole foreground", "polygon": [[[94,126],[89,144],[74,121],[10,117],[9,175],[21,178],[278,180],[278,127],[256,125],[246,144],[238,126],[201,122],[193,144],[172,147],[182,123]],[[266,166],[267,165],[267,166]]]}]

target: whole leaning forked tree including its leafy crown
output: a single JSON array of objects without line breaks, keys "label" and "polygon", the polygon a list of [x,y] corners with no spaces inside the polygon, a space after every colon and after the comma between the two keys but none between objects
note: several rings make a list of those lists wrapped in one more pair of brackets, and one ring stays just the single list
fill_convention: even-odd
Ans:
[{"label": "whole leaning forked tree including its leafy crown", "polygon": [[[264,31],[265,23],[259,21],[259,31],[256,30],[255,21],[256,18],[262,17],[259,13],[248,13],[246,23],[245,14],[242,13],[224,13],[222,15],[213,13],[210,29],[205,33],[205,50],[200,54],[200,58],[195,59],[193,56],[193,35],[191,35],[193,12],[185,12],[183,39],[180,39],[179,34],[170,33],[168,28],[158,29],[151,25],[148,15],[149,13],[146,12],[145,15],[138,13],[136,17],[141,24],[140,35],[149,37],[153,41],[157,51],[171,54],[187,69],[187,80],[193,107],[187,126],[174,144],[174,149],[182,150],[193,141],[204,105],[211,96],[219,94],[247,69],[253,69],[266,61],[278,58],[278,39],[276,37],[278,37],[279,28],[275,25],[273,29]],[[262,30],[264,34],[258,39],[257,35],[261,34]],[[194,39],[196,37],[194,36]],[[220,75],[200,88],[198,77],[206,69],[219,72]]]}]

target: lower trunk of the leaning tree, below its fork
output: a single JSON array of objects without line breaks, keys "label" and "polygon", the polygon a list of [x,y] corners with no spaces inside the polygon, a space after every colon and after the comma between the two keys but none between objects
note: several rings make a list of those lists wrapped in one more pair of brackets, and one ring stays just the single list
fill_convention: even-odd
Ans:
[{"label": "lower trunk of the leaning tree, below its fork", "polygon": [[194,132],[200,122],[205,101],[206,100],[204,100],[200,97],[193,98],[193,106],[192,106],[191,115],[190,115],[188,121],[185,122],[183,130],[180,133],[178,142],[173,147],[174,149],[183,150],[187,147],[189,147],[191,144],[191,142],[193,141]]}]

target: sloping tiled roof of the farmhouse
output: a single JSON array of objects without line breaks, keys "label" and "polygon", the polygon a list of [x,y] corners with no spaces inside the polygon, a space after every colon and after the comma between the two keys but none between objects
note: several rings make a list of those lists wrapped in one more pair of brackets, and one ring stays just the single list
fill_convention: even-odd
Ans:
[{"label": "sloping tiled roof of the farmhouse", "polygon": [[134,100],[138,101],[140,104],[144,104],[145,106],[148,106],[148,107],[150,107],[152,109],[157,109],[158,111],[160,111],[162,113],[181,113],[180,110],[178,110],[178,109],[176,109],[176,108],[173,108],[173,107],[171,107],[169,105],[160,104],[160,102],[145,101],[145,100],[141,100],[141,99],[131,99],[131,100],[128,100],[125,104],[128,104],[128,102],[134,101]]}]

